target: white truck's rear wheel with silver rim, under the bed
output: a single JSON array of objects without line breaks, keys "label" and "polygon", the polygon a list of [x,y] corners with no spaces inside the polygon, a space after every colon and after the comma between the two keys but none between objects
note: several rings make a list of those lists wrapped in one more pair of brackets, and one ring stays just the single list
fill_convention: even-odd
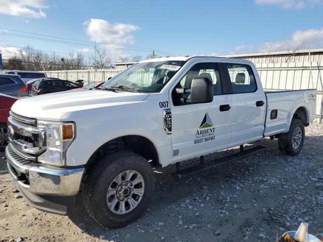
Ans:
[{"label": "white truck's rear wheel with silver rim, under the bed", "polygon": [[301,152],[305,140],[305,128],[302,120],[293,118],[288,133],[281,134],[278,145],[281,151],[295,156]]}]

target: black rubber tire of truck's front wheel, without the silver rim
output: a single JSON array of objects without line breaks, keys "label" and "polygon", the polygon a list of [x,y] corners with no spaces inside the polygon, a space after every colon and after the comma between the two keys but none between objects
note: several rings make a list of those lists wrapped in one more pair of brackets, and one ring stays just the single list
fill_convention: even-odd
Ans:
[{"label": "black rubber tire of truck's front wheel, without the silver rim", "polygon": [[[142,175],[144,193],[132,211],[116,214],[107,206],[106,194],[115,177],[126,170],[135,170]],[[101,158],[87,173],[83,201],[89,216],[95,222],[105,227],[119,228],[135,221],[145,212],[152,197],[154,176],[150,164],[143,157],[126,151],[112,153]]]}]

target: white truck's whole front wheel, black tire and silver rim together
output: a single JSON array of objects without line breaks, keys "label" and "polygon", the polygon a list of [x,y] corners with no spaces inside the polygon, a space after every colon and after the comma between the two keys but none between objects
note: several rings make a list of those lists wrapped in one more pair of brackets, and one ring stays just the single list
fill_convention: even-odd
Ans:
[{"label": "white truck's whole front wheel, black tire and silver rim together", "polygon": [[110,228],[138,219],[148,207],[154,186],[151,166],[140,155],[117,152],[89,170],[83,199],[90,217]]}]

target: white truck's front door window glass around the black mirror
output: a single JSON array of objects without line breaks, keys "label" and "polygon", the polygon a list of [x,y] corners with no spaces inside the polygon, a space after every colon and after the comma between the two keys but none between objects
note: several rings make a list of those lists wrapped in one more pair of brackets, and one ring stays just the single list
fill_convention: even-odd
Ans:
[{"label": "white truck's front door window glass around the black mirror", "polygon": [[[176,85],[176,88],[191,89],[192,80],[196,77],[206,77],[213,83],[213,94],[222,94],[222,85],[218,65],[216,63],[200,63],[193,66]],[[190,104],[190,93],[177,94],[173,91],[174,105]],[[176,100],[176,101],[175,101]]]}]

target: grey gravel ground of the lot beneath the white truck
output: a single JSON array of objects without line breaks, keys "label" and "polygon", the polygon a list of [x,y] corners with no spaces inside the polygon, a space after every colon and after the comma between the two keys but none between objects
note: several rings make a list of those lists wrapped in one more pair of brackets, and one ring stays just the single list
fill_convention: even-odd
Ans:
[{"label": "grey gravel ground of the lot beneath the white truck", "polygon": [[81,198],[70,217],[28,206],[0,153],[0,241],[275,241],[278,228],[296,230],[303,221],[323,233],[323,125],[306,128],[296,157],[281,153],[277,140],[257,144],[267,150],[185,180],[173,178],[174,165],[156,170],[149,209],[121,229],[95,224]]}]

